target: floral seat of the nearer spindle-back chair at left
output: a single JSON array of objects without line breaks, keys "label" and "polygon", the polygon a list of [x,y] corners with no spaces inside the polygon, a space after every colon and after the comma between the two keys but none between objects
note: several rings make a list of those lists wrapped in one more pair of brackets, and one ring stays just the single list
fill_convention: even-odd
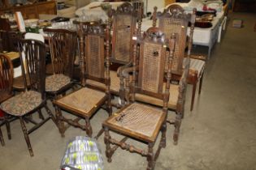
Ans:
[{"label": "floral seat of the nearer spindle-back chair at left", "polygon": [[41,104],[41,93],[37,91],[25,91],[2,102],[1,109],[14,116],[23,116]]}]

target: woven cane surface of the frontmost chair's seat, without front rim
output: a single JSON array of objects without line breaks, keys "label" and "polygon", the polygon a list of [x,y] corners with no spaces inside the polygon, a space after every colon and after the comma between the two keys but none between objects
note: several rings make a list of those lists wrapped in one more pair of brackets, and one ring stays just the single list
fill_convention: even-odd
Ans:
[{"label": "woven cane surface of the frontmost chair's seat, without front rim", "polygon": [[[145,104],[133,103],[127,108],[124,108],[119,114],[111,117],[108,122],[150,138],[153,136],[162,116],[162,109],[153,108]],[[160,123],[162,124],[162,122]]]}]

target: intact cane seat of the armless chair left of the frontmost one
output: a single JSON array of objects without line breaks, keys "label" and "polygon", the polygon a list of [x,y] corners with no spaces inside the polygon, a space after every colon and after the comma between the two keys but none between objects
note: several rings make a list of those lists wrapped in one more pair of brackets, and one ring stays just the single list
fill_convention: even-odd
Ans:
[{"label": "intact cane seat of the armless chair left of the frontmost one", "polygon": [[[89,98],[87,98],[89,97]],[[59,100],[56,100],[55,104],[65,106],[67,108],[75,109],[79,113],[87,115],[93,108],[106,97],[106,93],[102,91],[96,91],[87,87],[80,88],[67,96],[63,96]]]}]

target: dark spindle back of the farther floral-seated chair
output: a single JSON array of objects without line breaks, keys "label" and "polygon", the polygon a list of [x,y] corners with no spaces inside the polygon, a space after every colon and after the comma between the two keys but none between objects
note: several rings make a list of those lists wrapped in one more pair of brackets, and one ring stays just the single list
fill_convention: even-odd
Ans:
[{"label": "dark spindle back of the farther floral-seated chair", "polygon": [[76,57],[77,35],[67,29],[45,28],[49,36],[50,57],[54,74],[72,77]]}]

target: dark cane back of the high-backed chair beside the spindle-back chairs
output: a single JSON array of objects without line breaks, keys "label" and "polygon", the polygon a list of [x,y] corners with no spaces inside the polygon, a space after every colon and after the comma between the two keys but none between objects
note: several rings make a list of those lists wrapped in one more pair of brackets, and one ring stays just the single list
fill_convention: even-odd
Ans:
[{"label": "dark cane back of the high-backed chair beside the spindle-back chairs", "polygon": [[109,65],[105,62],[109,60],[109,53],[106,52],[109,52],[109,27],[100,22],[74,23],[78,24],[82,84],[85,85],[85,79],[107,84],[109,76],[106,76],[106,70],[109,70]]}]

